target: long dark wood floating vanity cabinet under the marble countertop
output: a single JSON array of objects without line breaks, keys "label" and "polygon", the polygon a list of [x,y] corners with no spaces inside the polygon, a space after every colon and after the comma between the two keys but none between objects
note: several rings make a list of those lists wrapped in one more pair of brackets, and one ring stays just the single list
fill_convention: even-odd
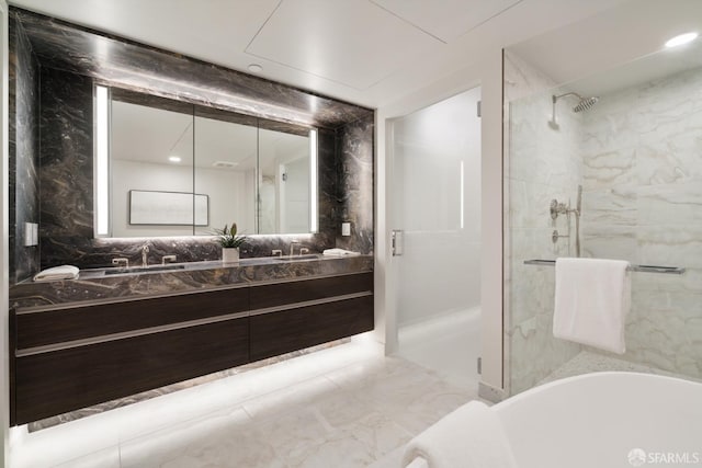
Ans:
[{"label": "long dark wood floating vanity cabinet under the marble countertop", "polygon": [[373,329],[373,273],[12,311],[24,424]]}]

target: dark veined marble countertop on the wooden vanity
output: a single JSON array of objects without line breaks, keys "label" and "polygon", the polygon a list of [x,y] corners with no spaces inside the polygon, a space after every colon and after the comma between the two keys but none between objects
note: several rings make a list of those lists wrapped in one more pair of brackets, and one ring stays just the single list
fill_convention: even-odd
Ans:
[{"label": "dark veined marble countertop on the wooden vanity", "polygon": [[[279,282],[302,277],[330,276],[373,271],[373,255],[241,259],[238,263],[222,261],[171,263],[149,269],[132,267],[81,270],[77,279],[33,282],[10,287],[13,308],[109,301],[171,293],[186,293],[251,283]],[[112,273],[115,272],[115,273]]]}]

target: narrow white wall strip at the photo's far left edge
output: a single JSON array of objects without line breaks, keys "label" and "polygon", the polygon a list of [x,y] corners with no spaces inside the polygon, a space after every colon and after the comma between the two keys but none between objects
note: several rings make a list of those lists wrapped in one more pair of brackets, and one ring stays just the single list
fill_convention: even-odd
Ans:
[{"label": "narrow white wall strip at the photo's far left edge", "polygon": [[8,4],[0,0],[0,92],[2,110],[0,112],[0,174],[2,174],[2,192],[0,192],[0,214],[2,214],[2,244],[0,249],[0,467],[9,465],[8,434],[10,432],[10,387],[9,387],[9,312],[8,284],[10,270],[8,263],[9,247],[9,180],[8,180]]}]

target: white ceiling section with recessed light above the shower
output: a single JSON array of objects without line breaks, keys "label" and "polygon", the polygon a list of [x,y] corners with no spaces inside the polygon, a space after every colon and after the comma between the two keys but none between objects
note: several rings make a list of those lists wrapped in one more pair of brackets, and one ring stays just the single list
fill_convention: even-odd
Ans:
[{"label": "white ceiling section with recessed light above the shower", "polygon": [[571,83],[567,88],[584,95],[602,95],[702,67],[702,39],[679,48],[664,46],[692,31],[702,34],[702,0],[636,0],[510,50],[556,83]]}]

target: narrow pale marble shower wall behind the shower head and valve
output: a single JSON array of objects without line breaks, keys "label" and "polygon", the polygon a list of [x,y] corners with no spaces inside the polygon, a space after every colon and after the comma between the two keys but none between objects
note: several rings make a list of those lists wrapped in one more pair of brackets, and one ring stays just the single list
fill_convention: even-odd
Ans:
[{"label": "narrow pale marble shower wall behind the shower head and valve", "polygon": [[509,395],[533,387],[573,358],[580,346],[553,338],[554,269],[529,259],[575,255],[570,238],[552,242],[568,220],[550,214],[553,198],[574,206],[581,183],[580,115],[558,102],[554,81],[513,53],[505,54],[505,383]]}]

